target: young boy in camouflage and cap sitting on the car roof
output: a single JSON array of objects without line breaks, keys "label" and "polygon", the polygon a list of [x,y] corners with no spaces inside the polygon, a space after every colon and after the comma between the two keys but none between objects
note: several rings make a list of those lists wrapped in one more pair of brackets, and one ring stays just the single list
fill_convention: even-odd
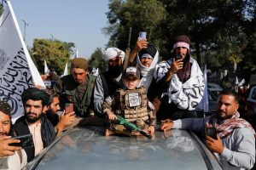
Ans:
[{"label": "young boy in camouflage and cap sitting on the car roof", "polygon": [[129,127],[117,124],[117,115],[125,118],[149,135],[154,134],[156,117],[154,106],[148,101],[145,88],[137,88],[140,82],[140,72],[136,67],[128,67],[123,73],[124,88],[116,90],[113,97],[108,97],[103,102],[103,111],[108,118],[109,126],[106,136],[112,134],[138,135]]}]

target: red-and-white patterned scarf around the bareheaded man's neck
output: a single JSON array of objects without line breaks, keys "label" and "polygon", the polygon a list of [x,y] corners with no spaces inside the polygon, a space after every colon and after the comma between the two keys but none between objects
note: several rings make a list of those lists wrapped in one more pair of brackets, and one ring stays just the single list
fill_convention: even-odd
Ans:
[{"label": "red-and-white patterned scarf around the bareheaded man's neck", "polygon": [[252,125],[246,120],[239,117],[240,114],[238,111],[236,111],[236,113],[230,119],[220,121],[218,120],[218,112],[216,112],[210,117],[209,123],[217,123],[215,127],[220,138],[224,138],[230,135],[230,133],[232,133],[234,129],[241,127],[247,127],[251,129],[253,131],[254,137],[256,137],[256,133]]}]

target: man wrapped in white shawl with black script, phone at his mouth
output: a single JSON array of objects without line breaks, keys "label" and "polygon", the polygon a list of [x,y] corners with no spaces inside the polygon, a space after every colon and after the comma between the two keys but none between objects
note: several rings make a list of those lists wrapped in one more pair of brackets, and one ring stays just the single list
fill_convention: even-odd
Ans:
[{"label": "man wrapped in white shawl with black script, phone at his mouth", "polygon": [[148,99],[154,104],[158,120],[196,117],[204,82],[199,65],[190,56],[189,44],[189,37],[177,36],[172,58],[156,65]]}]

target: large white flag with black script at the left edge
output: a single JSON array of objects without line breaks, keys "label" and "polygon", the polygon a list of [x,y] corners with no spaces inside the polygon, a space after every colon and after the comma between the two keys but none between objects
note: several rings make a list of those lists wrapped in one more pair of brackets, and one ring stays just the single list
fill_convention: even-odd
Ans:
[{"label": "large white flag with black script at the left edge", "polygon": [[0,17],[0,99],[11,105],[12,118],[23,115],[20,94],[32,84],[44,86],[32,62],[11,3],[6,1]]}]

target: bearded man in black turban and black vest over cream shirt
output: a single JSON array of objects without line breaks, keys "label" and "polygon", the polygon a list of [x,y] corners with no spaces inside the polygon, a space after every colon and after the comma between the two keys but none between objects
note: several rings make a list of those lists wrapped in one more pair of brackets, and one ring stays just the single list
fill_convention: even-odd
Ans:
[{"label": "bearded man in black turban and black vest over cream shirt", "polygon": [[15,122],[15,133],[32,133],[34,147],[27,148],[27,162],[32,161],[46,146],[55,139],[55,127],[45,116],[49,95],[38,88],[27,88],[21,94],[25,115]]}]

